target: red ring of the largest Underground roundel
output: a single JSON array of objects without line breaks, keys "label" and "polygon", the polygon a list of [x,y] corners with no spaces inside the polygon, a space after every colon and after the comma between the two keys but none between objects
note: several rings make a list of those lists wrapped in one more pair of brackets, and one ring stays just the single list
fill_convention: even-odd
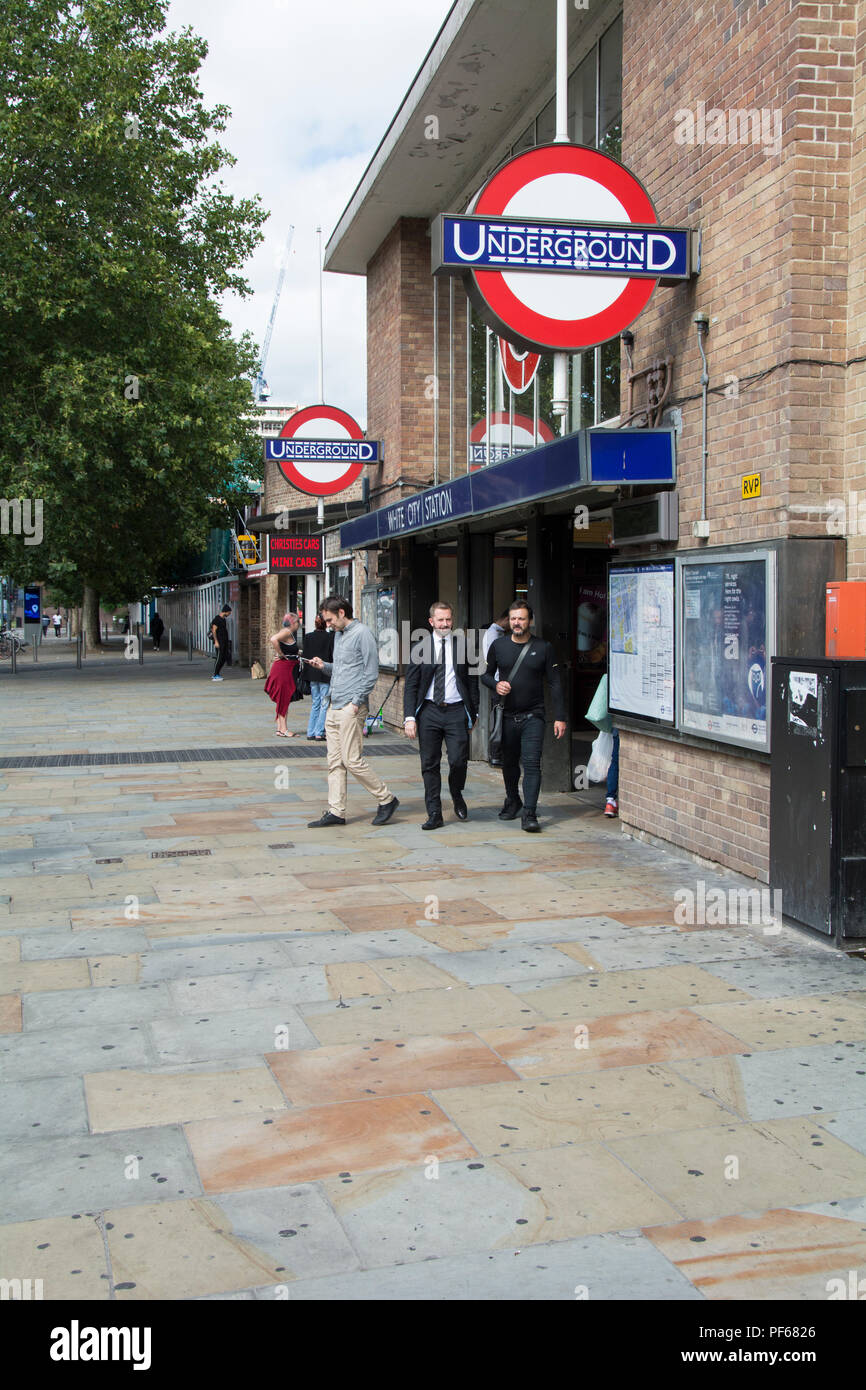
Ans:
[{"label": "red ring of the largest Underground roundel", "polygon": [[[580,174],[613,193],[631,222],[659,221],[649,193],[634,174],[630,174],[619,160],[601,154],[599,150],[591,150],[585,145],[541,145],[524,150],[491,175],[471,211],[477,215],[502,217],[520,189],[548,174]],[[506,285],[503,271],[473,270],[468,274],[498,325],[502,325],[509,336],[537,352],[580,352],[616,338],[646,307],[656,288],[655,279],[630,279],[613,303],[601,313],[587,318],[562,320],[539,314],[517,299]]]}]

